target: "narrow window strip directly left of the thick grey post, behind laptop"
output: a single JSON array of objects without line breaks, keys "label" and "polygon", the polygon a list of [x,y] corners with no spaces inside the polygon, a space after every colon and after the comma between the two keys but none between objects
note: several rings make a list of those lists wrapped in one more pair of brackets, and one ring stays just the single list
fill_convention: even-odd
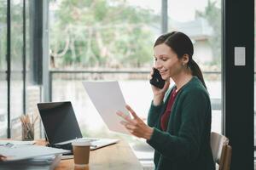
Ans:
[{"label": "narrow window strip directly left of the thick grey post, behind laptop", "polygon": [[[32,53],[32,50],[35,51],[34,49],[34,44],[32,44],[32,37],[33,37],[33,26],[37,25],[33,24],[33,20],[35,17],[32,18],[32,7],[36,1],[25,1],[25,21],[23,24],[25,25],[25,59],[26,63],[24,65],[24,68],[26,69],[26,78],[25,78],[25,96],[24,99],[25,101],[25,113],[29,115],[33,115],[33,118],[35,119],[37,116],[39,116],[38,113],[38,108],[37,108],[37,103],[41,101],[41,87],[36,83],[34,75],[37,74],[35,73],[35,69],[33,69],[34,65],[38,63],[39,61],[36,59],[33,59],[34,55],[37,55],[35,53]],[[35,11],[35,9],[33,10]],[[38,37],[33,37],[33,39],[36,39]],[[37,58],[38,59],[38,58]],[[39,119],[38,119],[39,120]],[[43,136],[41,136],[41,122],[37,121],[35,122],[34,125],[34,138],[35,139],[42,139]]]}]

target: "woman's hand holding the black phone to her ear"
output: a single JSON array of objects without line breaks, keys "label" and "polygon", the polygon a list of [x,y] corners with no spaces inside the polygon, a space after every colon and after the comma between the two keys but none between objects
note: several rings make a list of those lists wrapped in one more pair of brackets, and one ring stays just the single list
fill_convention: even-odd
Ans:
[{"label": "woman's hand holding the black phone to her ear", "polygon": [[[154,68],[150,71],[150,74],[148,75],[148,80],[152,79],[152,76],[154,74]],[[154,85],[151,85],[153,94],[154,94],[154,105],[160,105],[161,102],[163,101],[166,91],[170,86],[170,78],[166,80],[164,88],[156,88]]]}]

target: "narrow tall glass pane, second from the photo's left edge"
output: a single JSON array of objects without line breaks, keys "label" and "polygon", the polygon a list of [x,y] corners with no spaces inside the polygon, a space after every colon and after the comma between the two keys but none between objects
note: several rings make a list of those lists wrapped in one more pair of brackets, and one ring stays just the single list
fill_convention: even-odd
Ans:
[{"label": "narrow tall glass pane, second from the photo's left edge", "polygon": [[10,115],[11,138],[21,139],[20,119],[23,114],[23,1],[11,1],[11,87]]}]

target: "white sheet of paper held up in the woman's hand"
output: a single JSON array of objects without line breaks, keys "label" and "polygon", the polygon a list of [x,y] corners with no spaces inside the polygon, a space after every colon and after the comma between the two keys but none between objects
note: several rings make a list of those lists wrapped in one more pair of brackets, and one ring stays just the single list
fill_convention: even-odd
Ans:
[{"label": "white sheet of paper held up in the woman's hand", "polygon": [[122,111],[127,116],[130,116],[125,109],[125,99],[119,87],[119,82],[83,82],[83,84],[90,100],[102,116],[109,130],[130,134],[120,124],[122,118],[116,115],[117,111]]}]

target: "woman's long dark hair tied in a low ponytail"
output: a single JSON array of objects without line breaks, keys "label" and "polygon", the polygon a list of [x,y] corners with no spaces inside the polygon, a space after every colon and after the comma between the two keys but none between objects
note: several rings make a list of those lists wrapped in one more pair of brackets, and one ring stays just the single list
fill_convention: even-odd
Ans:
[{"label": "woman's long dark hair tied in a low ponytail", "polygon": [[165,43],[167,46],[172,48],[172,50],[177,54],[178,59],[181,59],[184,54],[188,54],[188,67],[192,71],[192,75],[198,77],[204,87],[207,88],[199,65],[197,65],[195,60],[192,59],[192,55],[194,54],[193,43],[186,34],[179,31],[172,31],[170,33],[163,34],[154,42],[154,47],[161,43]]}]

